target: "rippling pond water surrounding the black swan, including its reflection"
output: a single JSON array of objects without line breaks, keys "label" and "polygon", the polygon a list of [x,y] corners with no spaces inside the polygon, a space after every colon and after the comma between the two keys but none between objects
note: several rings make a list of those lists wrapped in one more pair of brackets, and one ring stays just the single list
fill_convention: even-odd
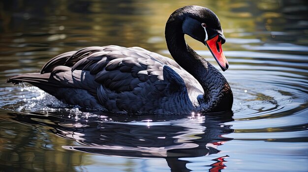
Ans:
[{"label": "rippling pond water surrounding the black swan, including its reflection", "polygon": [[[140,46],[170,57],[164,25],[185,1],[1,1],[0,171],[308,172],[307,2],[189,4],[221,21],[232,112],[115,115],[5,83],[88,46]],[[218,67],[204,45],[186,40]]]}]

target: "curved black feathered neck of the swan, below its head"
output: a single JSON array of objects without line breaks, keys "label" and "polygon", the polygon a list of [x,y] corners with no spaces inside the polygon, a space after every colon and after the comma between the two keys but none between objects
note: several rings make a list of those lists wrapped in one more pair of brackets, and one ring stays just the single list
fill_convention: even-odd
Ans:
[{"label": "curved black feathered neck of the swan, below its head", "polygon": [[[170,19],[170,18],[169,18]],[[203,104],[200,111],[230,110],[233,103],[231,88],[224,76],[208,61],[198,55],[185,42],[182,21],[169,21],[165,37],[173,59],[202,86]]]}]

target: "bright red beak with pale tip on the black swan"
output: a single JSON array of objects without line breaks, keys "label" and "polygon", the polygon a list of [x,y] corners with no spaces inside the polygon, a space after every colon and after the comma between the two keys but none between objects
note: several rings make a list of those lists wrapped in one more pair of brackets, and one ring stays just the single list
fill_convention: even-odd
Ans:
[{"label": "bright red beak with pale tip on the black swan", "polygon": [[212,55],[214,56],[216,62],[218,63],[222,71],[227,70],[229,67],[229,63],[222,52],[221,40],[218,42],[218,35],[216,35],[210,40],[207,40],[206,45],[210,49]]}]

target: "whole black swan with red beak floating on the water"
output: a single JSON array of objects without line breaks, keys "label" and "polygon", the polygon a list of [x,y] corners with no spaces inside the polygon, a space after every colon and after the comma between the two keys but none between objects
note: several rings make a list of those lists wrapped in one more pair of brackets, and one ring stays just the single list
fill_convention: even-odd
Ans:
[{"label": "whole black swan with red beak floating on the water", "polygon": [[40,73],[7,82],[28,82],[72,105],[128,114],[221,112],[232,108],[225,77],[185,42],[184,34],[206,45],[220,68],[228,69],[225,37],[216,14],[201,6],[173,12],[166,24],[174,60],[139,47],[88,47],[62,53]]}]

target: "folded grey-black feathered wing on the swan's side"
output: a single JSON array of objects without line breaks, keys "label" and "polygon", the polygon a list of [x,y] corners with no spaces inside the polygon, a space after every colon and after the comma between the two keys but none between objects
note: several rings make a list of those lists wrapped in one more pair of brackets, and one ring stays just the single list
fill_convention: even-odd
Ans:
[{"label": "folded grey-black feathered wing on the swan's side", "polygon": [[57,85],[51,94],[70,104],[85,104],[84,95],[92,98],[90,104],[113,112],[186,112],[193,105],[184,79],[174,69],[181,67],[145,49],[105,46],[60,54],[41,74],[50,73],[48,82]]}]

